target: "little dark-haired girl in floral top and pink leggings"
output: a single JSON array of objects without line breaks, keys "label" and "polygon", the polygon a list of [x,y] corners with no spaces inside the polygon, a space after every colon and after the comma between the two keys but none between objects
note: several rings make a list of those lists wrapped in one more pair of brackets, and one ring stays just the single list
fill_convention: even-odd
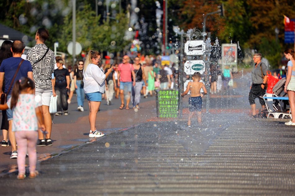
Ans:
[{"label": "little dark-haired girl in floral top and pink leggings", "polygon": [[13,108],[12,131],[15,132],[16,143],[18,147],[17,179],[25,179],[25,157],[29,154],[29,178],[34,178],[38,175],[36,171],[37,153],[36,142],[38,139],[38,125],[42,131],[45,131],[41,111],[38,107],[38,102],[35,101],[34,82],[22,77],[16,81],[11,98],[6,104],[1,104],[0,109],[6,110]]}]

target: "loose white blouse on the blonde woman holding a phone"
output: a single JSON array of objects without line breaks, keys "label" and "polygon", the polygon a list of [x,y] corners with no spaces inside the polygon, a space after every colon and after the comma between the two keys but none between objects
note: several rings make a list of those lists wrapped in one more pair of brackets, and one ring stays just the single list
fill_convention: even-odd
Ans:
[{"label": "loose white blouse on the blonde woman holding a phone", "polygon": [[84,82],[84,92],[94,93],[105,91],[105,79],[106,75],[102,70],[95,64],[88,64],[86,70],[83,71],[83,82]]}]

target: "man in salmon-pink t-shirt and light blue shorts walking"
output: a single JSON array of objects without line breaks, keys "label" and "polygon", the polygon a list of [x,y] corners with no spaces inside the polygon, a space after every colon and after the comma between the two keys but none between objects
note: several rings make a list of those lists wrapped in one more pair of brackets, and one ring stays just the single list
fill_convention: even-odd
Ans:
[{"label": "man in salmon-pink t-shirt and light blue shorts walking", "polygon": [[[121,106],[119,107],[121,110],[124,108],[124,89],[128,91],[128,97],[126,98],[126,109],[129,110],[129,102],[131,98],[131,90],[132,85],[135,86],[135,73],[134,67],[129,63],[129,56],[125,55],[123,57],[123,63],[120,63],[118,66],[118,86],[120,87],[120,99]],[[132,77],[133,82],[132,82]]]}]

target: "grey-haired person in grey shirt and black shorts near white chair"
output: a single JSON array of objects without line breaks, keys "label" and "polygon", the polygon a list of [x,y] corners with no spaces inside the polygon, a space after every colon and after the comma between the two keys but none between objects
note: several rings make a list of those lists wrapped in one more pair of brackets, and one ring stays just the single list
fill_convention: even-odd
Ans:
[{"label": "grey-haired person in grey shirt and black shorts near white chair", "polygon": [[256,118],[256,105],[255,99],[258,98],[261,104],[261,107],[265,108],[265,102],[263,100],[263,95],[265,94],[266,82],[267,82],[267,67],[265,63],[261,62],[261,54],[256,53],[253,56],[253,60],[255,63],[254,69],[252,70],[252,85],[250,87],[249,93],[249,102],[252,110],[252,117]]}]

